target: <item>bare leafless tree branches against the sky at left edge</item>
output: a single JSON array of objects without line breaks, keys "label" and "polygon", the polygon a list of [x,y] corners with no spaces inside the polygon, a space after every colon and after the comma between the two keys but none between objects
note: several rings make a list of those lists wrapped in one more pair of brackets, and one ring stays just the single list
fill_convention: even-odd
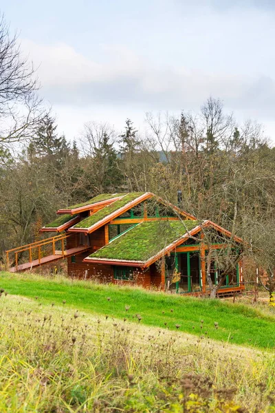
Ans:
[{"label": "bare leafless tree branches against the sky at left edge", "polygon": [[12,142],[30,138],[44,114],[37,91],[34,67],[23,57],[18,36],[10,36],[3,15],[0,17],[0,149]]}]

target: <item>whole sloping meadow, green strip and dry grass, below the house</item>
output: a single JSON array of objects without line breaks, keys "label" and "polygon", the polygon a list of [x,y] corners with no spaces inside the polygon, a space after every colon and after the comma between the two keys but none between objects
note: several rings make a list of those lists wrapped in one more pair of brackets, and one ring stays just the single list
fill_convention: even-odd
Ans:
[{"label": "whole sloping meadow, green strip and dry grass, below the house", "polygon": [[0,287],[0,412],[275,412],[272,308],[37,275]]}]

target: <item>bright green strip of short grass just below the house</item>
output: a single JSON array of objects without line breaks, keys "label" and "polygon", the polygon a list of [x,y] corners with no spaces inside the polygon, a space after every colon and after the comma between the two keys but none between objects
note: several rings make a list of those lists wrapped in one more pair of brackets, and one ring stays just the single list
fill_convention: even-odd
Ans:
[{"label": "bright green strip of short grass just below the house", "polygon": [[[0,288],[13,295],[37,296],[44,304],[66,300],[72,308],[120,319],[125,317],[125,306],[131,306],[133,322],[138,322],[139,314],[146,326],[175,330],[178,324],[180,331],[194,335],[207,332],[208,337],[219,341],[268,349],[275,346],[275,316],[241,304],[6,272],[1,273]],[[219,328],[214,327],[215,322]]]}]

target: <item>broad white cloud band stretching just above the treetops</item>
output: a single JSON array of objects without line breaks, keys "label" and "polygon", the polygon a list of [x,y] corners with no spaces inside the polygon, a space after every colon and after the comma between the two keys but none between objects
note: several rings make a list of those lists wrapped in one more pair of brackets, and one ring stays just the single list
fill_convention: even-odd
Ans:
[{"label": "broad white cloud band stretching just above the treetops", "polygon": [[210,95],[247,117],[260,121],[273,118],[275,88],[270,76],[222,70],[208,73],[184,65],[156,66],[120,45],[102,45],[102,61],[88,59],[65,43],[45,45],[25,40],[22,47],[38,66],[42,94],[54,110],[58,107],[62,112],[61,129],[66,134],[70,130],[71,138],[91,118],[119,120],[122,127],[122,118],[140,120],[146,111],[197,110]]}]

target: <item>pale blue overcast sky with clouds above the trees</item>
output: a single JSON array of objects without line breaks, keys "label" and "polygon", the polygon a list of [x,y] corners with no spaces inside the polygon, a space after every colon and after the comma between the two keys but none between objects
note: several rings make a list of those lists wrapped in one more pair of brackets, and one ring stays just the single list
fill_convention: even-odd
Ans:
[{"label": "pale blue overcast sky with clouds above the trees", "polygon": [[60,132],[221,98],[275,142],[275,0],[2,0]]}]

